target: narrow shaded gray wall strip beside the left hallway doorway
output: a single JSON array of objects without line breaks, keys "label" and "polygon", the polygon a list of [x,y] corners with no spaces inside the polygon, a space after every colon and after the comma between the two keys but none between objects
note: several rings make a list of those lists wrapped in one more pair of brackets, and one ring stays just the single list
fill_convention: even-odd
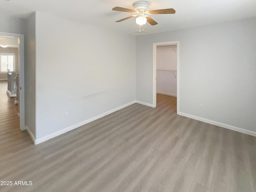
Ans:
[{"label": "narrow shaded gray wall strip beside the left hallway doorway", "polygon": [[36,14],[26,19],[25,125],[36,137]]}]

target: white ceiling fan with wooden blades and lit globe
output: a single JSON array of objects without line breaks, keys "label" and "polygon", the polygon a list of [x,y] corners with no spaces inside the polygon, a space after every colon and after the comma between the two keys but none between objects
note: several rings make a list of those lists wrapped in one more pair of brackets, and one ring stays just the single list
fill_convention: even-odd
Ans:
[{"label": "white ceiling fan with wooden blades and lit globe", "polygon": [[158,24],[155,20],[153,20],[149,15],[154,15],[154,14],[174,14],[176,11],[174,9],[159,9],[159,10],[152,10],[149,11],[149,2],[148,1],[137,1],[133,4],[134,10],[133,9],[128,9],[128,8],[122,8],[122,7],[114,7],[112,10],[113,11],[122,11],[122,12],[129,12],[129,13],[134,13],[134,15],[120,19],[116,22],[121,22],[126,19],[130,19],[133,17],[136,17],[136,23],[139,25],[144,25],[146,22],[148,22],[151,25],[156,25]]}]

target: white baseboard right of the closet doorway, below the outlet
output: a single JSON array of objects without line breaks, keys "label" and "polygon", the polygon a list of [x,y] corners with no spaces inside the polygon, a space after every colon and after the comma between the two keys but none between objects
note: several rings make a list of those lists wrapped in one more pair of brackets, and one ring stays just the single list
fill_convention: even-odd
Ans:
[{"label": "white baseboard right of the closet doorway, below the outlet", "polygon": [[198,120],[198,121],[202,121],[202,122],[205,122],[205,123],[209,123],[209,124],[212,124],[212,125],[216,125],[216,126],[219,126],[219,127],[227,128],[227,129],[230,129],[230,130],[233,130],[233,131],[237,131],[237,132],[240,132],[240,133],[244,133],[244,134],[248,134],[248,135],[256,137],[256,132],[254,132],[254,131],[246,130],[246,129],[243,129],[243,128],[239,128],[239,127],[235,127],[235,126],[232,126],[232,125],[212,121],[212,120],[209,120],[209,119],[201,118],[201,117],[198,117],[198,116],[194,116],[194,115],[190,115],[190,114],[186,114],[186,113],[182,113],[182,112],[178,112],[177,114],[181,115],[181,116],[184,116],[184,117],[188,117],[188,118],[191,118],[191,119],[195,119],[195,120]]}]

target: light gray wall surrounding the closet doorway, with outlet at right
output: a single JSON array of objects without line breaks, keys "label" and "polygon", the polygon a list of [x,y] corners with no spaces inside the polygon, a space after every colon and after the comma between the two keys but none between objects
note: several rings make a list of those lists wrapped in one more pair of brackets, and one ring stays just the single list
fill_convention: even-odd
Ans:
[{"label": "light gray wall surrounding the closet doorway, with outlet at right", "polygon": [[252,18],[137,36],[137,100],[152,104],[152,43],[180,41],[180,112],[256,132],[255,31]]}]

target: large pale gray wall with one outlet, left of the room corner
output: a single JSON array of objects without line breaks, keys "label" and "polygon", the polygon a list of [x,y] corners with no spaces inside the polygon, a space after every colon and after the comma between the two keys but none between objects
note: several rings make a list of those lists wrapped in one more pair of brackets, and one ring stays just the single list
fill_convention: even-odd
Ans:
[{"label": "large pale gray wall with one outlet, left of the room corner", "polygon": [[135,100],[135,36],[36,12],[36,139]]}]

